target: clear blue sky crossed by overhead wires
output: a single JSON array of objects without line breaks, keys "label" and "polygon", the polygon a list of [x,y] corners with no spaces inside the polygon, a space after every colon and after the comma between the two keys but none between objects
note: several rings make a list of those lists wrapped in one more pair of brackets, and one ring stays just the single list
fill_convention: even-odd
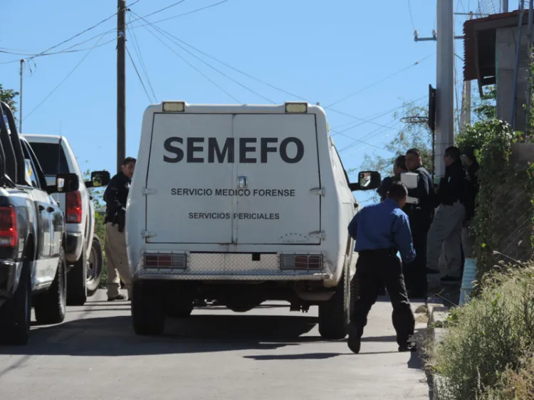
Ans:
[{"label": "clear blue sky crossed by overhead wires", "polygon": [[[186,0],[147,17],[147,21],[167,19],[219,1]],[[146,16],[176,2],[140,0],[132,5],[132,14],[127,16],[127,21],[137,19],[136,14]],[[475,3],[456,1],[455,11],[474,11]],[[360,166],[366,153],[387,155],[379,148],[392,140],[401,126],[400,123],[395,125],[392,113],[375,116],[399,107],[403,101],[426,96],[429,83],[435,86],[436,43],[415,43],[413,31],[415,27],[419,36],[431,36],[436,21],[436,2],[411,0],[410,4],[412,17],[407,0],[380,2],[380,8],[375,1],[228,0],[156,26],[277,88],[321,105],[335,103],[332,108],[338,112],[327,110],[330,126],[334,129],[340,125],[339,129],[344,129],[360,124],[361,119],[372,120],[343,135],[335,135],[337,148],[342,150],[342,161],[347,169],[352,169]],[[0,50],[35,54],[108,18],[115,13],[116,2],[55,0],[52,9],[46,1],[18,0],[4,1],[0,7]],[[465,19],[464,16],[456,18],[456,34],[461,34],[461,23]],[[133,29],[127,31],[127,48],[143,74],[137,44],[157,101],[236,102],[176,53],[240,102],[268,103],[265,98],[278,103],[299,100],[188,48],[250,89],[247,90],[155,33],[172,48],[171,51],[150,33],[152,28],[149,27],[149,31],[140,23],[145,24],[142,20],[133,22]],[[98,36],[115,26],[116,17],[112,17],[54,51]],[[88,51],[33,58],[34,63],[26,63],[23,75],[23,133],[54,135],[61,132],[72,144],[82,169],[115,171],[114,37],[115,33],[110,32],[75,47]],[[95,44],[98,47],[93,48]],[[455,44],[456,53],[461,56],[462,43],[456,41]],[[89,52],[90,48],[93,50]],[[26,56],[0,53],[0,82],[4,88],[19,90],[19,62],[6,62],[21,57]],[[423,60],[419,65],[407,68],[419,60]],[[78,63],[78,68],[65,82],[38,106]],[[459,74],[461,66],[459,61]],[[147,85],[145,76],[142,76]],[[391,78],[384,80],[387,77]],[[461,75],[457,79],[461,80]],[[147,90],[152,95],[148,85]],[[342,99],[345,100],[339,101]],[[419,100],[421,104],[424,101],[426,98]],[[127,57],[127,154],[134,157],[140,139],[142,112],[148,104],[150,100]],[[384,125],[392,128],[384,128]],[[365,140],[367,144],[355,142],[357,140]],[[354,143],[357,144],[344,149]]]}]

